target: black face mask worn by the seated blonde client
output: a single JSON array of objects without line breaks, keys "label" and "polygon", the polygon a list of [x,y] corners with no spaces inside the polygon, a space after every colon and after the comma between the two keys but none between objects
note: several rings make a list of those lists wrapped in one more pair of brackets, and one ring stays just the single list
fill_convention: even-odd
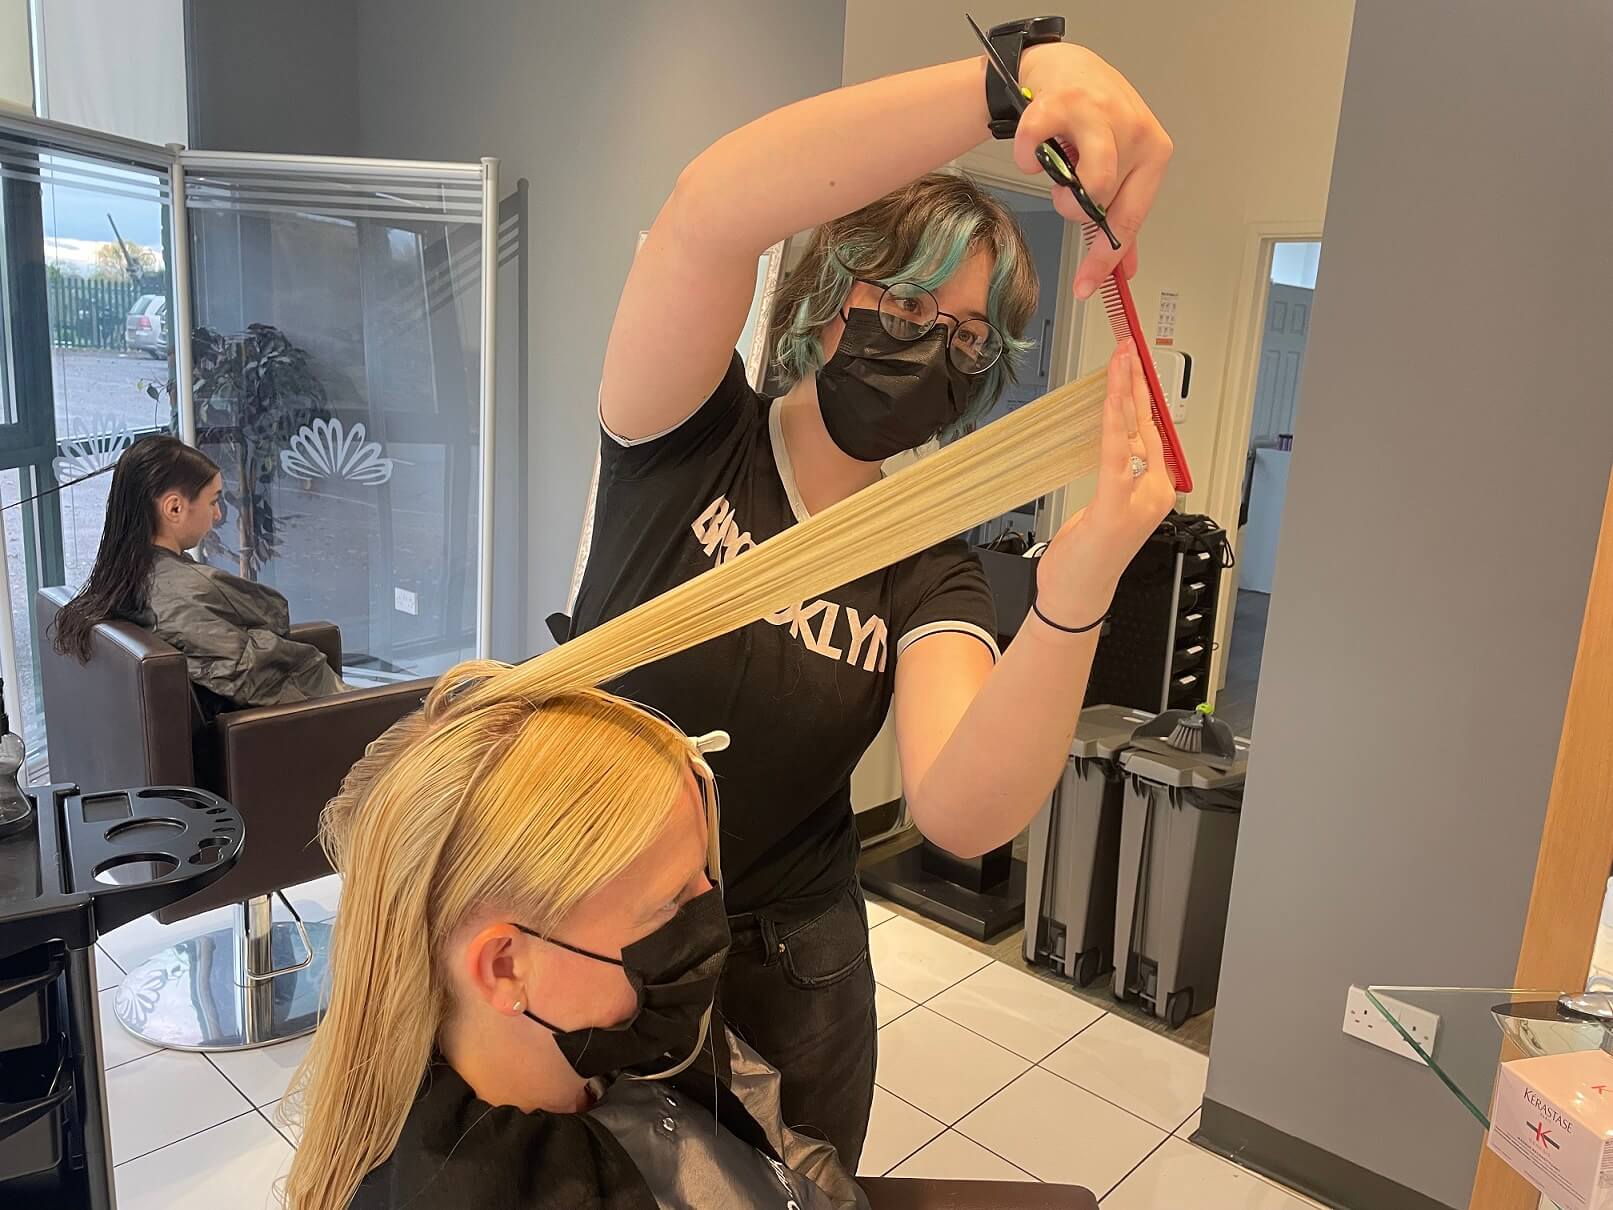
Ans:
[{"label": "black face mask worn by the seated blonde client", "polygon": [[[542,936],[521,928],[529,936]],[[534,1012],[527,1012],[555,1036],[560,1054],[584,1079],[615,1071],[658,1066],[650,1079],[674,1076],[700,1054],[711,1024],[716,979],[727,957],[727,913],[723,892],[711,887],[695,895],[677,915],[647,937],[623,947],[619,958],[568,945],[544,937],[550,945],[581,953],[584,958],[621,966],[639,995],[632,1016],[618,1026],[558,1029]],[[666,1058],[666,1062],[658,1062]]]}]

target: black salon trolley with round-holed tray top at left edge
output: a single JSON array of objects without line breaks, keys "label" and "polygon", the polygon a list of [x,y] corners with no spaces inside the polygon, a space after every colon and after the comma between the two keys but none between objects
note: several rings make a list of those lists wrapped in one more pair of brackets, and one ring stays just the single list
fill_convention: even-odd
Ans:
[{"label": "black salon trolley with round-holed tray top at left edge", "polygon": [[0,1205],[111,1210],[95,941],[221,878],[245,829],[203,791],[27,797],[0,836]]}]

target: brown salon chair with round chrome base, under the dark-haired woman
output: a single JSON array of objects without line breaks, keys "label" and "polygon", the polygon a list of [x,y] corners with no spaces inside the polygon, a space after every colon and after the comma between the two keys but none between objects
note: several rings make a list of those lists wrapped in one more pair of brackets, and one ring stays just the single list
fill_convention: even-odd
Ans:
[{"label": "brown salon chair with round chrome base, under the dark-haired woman", "polygon": [[[34,608],[52,779],[84,792],[197,786],[247,823],[235,866],[156,913],[173,924],[232,905],[234,924],[131,970],[118,989],[118,1020],[135,1037],[179,1050],[244,1050],[310,1033],[324,1007],[331,926],[305,923],[282,887],[331,873],[319,812],[365,747],[424,700],[431,681],[206,720],[184,655],[139,626],[98,624],[89,663],[56,653],[44,636],[69,597],[42,589]],[[340,671],[336,626],[294,626],[292,637]],[[276,899],[289,921],[274,921]]]}]

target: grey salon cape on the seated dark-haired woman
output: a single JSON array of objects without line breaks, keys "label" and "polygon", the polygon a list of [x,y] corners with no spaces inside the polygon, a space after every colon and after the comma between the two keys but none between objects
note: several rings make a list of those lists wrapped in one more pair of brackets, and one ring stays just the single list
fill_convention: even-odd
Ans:
[{"label": "grey salon cape on the seated dark-haired woman", "polygon": [[190,681],[237,707],[347,689],[324,653],[290,637],[290,607],[266,584],[156,547],[145,610],[129,621],[184,652]]}]

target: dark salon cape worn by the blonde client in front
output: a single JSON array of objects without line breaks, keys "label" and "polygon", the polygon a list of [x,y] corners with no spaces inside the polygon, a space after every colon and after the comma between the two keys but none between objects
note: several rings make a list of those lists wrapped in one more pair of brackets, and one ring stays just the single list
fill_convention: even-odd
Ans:
[{"label": "dark salon cape worn by the blonde client in front", "polygon": [[708,1050],[671,1081],[615,1083],[589,1113],[487,1105],[439,1057],[350,1208],[865,1208],[834,1149],[784,1128],[777,1071],[727,1039],[718,1079]]}]

